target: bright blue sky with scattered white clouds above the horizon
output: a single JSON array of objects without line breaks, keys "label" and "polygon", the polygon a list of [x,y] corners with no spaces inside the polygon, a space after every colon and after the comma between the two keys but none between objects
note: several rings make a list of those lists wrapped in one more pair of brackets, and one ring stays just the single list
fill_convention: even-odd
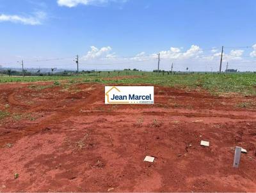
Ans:
[{"label": "bright blue sky with scattered white clouds above the horizon", "polygon": [[255,70],[255,18],[254,0],[0,0],[0,63],[152,70],[160,52],[164,70],[215,71],[224,45],[230,68]]}]

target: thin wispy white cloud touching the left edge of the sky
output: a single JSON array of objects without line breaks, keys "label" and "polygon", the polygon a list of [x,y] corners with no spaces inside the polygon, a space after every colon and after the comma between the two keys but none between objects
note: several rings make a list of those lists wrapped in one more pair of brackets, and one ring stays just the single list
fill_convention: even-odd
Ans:
[{"label": "thin wispy white cloud touching the left edge of the sky", "polygon": [[27,17],[21,15],[6,15],[0,14],[0,22],[13,22],[21,23],[25,25],[36,26],[42,24],[42,21],[46,19],[45,12],[35,12],[33,15]]}]

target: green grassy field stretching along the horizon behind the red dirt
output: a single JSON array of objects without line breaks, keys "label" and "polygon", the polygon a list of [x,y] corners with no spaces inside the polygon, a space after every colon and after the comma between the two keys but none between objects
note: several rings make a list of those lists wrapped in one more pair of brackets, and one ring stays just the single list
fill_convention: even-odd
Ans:
[{"label": "green grassy field stretching along the horizon behind the red dirt", "polygon": [[[125,78],[125,76],[134,76]],[[108,79],[118,77],[118,79]],[[43,76],[43,77],[0,77],[3,82],[36,82],[61,81],[76,82],[102,82],[104,84],[158,84],[175,86],[179,88],[203,88],[212,94],[241,93],[242,95],[256,95],[256,73],[188,73],[167,74],[153,72],[95,72],[77,76]],[[56,84],[56,83],[55,83]]]}]

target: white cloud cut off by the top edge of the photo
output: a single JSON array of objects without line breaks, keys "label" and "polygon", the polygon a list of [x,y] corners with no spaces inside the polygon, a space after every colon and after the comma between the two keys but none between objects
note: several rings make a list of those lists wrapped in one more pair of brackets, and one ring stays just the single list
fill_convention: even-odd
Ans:
[{"label": "white cloud cut off by the top edge of the photo", "polygon": [[106,4],[109,2],[116,3],[125,3],[127,0],[58,0],[57,3],[59,6],[67,6],[69,8],[75,7],[78,4],[84,5],[100,5]]}]

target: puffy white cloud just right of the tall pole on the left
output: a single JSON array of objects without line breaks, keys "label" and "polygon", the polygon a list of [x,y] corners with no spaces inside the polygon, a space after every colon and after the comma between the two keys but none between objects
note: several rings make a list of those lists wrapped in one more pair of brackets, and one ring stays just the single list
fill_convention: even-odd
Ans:
[{"label": "puffy white cloud just right of the tall pole on the left", "polygon": [[84,59],[96,59],[96,58],[114,58],[115,53],[111,52],[111,47],[102,47],[98,49],[95,46],[91,46],[91,50],[87,52],[86,56],[84,56]]}]

